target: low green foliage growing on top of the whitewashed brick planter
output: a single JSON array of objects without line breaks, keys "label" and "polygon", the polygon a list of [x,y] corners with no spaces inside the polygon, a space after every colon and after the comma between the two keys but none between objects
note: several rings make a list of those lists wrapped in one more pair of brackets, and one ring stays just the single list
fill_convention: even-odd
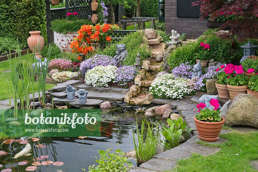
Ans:
[{"label": "low green foliage growing on top of the whitewashed brick planter", "polygon": [[92,22],[90,20],[75,20],[72,22],[67,22],[65,19],[58,19],[51,21],[51,29],[56,32],[66,34],[66,32],[77,32],[80,30],[82,25],[88,24],[92,24]]}]

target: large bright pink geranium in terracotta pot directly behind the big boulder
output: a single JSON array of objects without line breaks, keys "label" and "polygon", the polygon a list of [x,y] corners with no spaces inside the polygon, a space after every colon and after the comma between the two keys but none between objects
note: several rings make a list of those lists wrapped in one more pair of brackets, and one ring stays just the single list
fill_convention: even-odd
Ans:
[{"label": "large bright pink geranium in terracotta pot directly behind the big boulder", "polygon": [[247,94],[248,76],[244,75],[243,67],[228,64],[224,71],[229,74],[226,79],[227,87],[230,94],[230,99],[233,100],[238,94]]}]

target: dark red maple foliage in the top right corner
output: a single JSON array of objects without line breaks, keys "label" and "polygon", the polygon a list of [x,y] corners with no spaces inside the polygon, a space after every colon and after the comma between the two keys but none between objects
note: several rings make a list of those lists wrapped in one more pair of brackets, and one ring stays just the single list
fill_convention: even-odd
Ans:
[{"label": "dark red maple foliage in the top right corner", "polygon": [[221,14],[233,14],[235,18],[225,22],[221,29],[230,27],[229,33],[240,34],[240,40],[258,38],[258,0],[199,0],[192,5],[200,6],[200,20],[207,15],[209,20],[215,21]]}]

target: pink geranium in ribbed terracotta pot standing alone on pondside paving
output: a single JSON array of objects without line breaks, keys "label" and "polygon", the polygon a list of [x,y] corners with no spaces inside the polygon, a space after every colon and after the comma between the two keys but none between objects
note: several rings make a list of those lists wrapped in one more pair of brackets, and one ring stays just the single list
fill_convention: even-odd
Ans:
[{"label": "pink geranium in ribbed terracotta pot standing alone on pondside paving", "polygon": [[210,104],[213,107],[212,110],[206,109],[204,103],[198,104],[199,114],[194,117],[198,137],[205,142],[215,142],[218,140],[225,122],[225,119],[219,116],[219,101],[217,99],[211,99]]}]

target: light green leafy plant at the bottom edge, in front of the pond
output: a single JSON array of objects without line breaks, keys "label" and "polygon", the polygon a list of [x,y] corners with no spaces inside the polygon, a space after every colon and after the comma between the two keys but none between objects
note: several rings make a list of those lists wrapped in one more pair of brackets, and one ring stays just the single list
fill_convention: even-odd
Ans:
[{"label": "light green leafy plant at the bottom edge, in front of the pond", "polygon": [[95,158],[99,165],[90,166],[88,172],[126,172],[133,166],[132,162],[127,161],[127,158],[123,157],[125,153],[121,152],[120,149],[116,150],[115,153],[112,153],[111,148],[106,151],[99,150],[98,152],[100,158]]}]

